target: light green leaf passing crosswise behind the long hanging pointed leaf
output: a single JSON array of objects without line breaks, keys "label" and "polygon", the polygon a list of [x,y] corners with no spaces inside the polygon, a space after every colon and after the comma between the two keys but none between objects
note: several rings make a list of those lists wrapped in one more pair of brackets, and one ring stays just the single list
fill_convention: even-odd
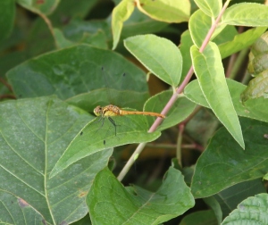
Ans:
[{"label": "light green leaf passing crosswise behind the long hanging pointed leaf", "polygon": [[[240,101],[240,94],[245,90],[247,86],[232,80],[226,79],[228,88],[230,90],[231,101],[235,107],[239,116],[252,118],[258,121],[268,122],[268,100],[263,98],[249,99],[245,104]],[[194,80],[188,84],[184,89],[184,95],[191,101],[201,104],[207,108],[210,106],[205,100],[205,96],[202,94],[201,88],[198,85],[197,80]]]}]

